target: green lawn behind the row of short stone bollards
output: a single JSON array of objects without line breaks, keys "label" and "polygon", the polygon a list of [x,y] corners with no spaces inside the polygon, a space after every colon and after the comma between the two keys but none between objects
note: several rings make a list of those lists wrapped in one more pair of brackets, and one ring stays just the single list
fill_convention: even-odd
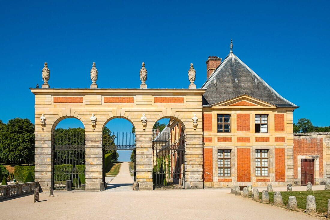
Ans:
[{"label": "green lawn behind the row of short stone bollards", "polygon": [[[295,196],[297,199],[298,208],[306,209],[306,198],[309,195],[315,197],[316,211],[326,214],[328,199],[330,199],[330,191],[318,190],[318,191],[296,191],[296,192],[281,192],[283,205],[288,205],[289,196]],[[259,193],[261,199],[261,192]],[[274,202],[274,192],[269,192],[269,202]]]}]

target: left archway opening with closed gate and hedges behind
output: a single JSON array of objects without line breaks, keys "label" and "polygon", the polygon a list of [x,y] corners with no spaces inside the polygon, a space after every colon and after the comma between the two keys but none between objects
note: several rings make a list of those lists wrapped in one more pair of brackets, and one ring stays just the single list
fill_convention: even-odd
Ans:
[{"label": "left archway opening with closed gate and hedges behind", "polygon": [[52,131],[53,187],[85,189],[85,128],[76,118],[63,119],[55,126]]}]

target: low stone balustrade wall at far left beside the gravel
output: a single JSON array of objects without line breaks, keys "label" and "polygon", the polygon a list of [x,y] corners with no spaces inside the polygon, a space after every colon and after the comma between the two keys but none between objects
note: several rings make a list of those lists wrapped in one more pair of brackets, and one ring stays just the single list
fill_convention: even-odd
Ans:
[{"label": "low stone balustrade wall at far left beside the gravel", "polygon": [[38,182],[18,183],[0,186],[0,201],[34,192],[35,187],[39,186]]}]

